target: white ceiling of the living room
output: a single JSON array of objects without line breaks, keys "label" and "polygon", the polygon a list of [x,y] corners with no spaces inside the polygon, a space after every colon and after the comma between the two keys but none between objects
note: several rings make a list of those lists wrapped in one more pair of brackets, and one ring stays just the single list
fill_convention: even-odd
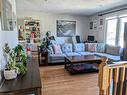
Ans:
[{"label": "white ceiling of the living room", "polygon": [[127,4],[127,0],[16,0],[17,12],[92,15]]}]

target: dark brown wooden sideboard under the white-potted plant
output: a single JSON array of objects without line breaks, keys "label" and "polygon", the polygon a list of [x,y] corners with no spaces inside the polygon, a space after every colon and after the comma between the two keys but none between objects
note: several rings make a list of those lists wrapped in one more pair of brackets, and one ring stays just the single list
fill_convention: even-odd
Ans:
[{"label": "dark brown wooden sideboard under the white-potted plant", "polygon": [[18,76],[14,80],[4,81],[0,88],[0,95],[41,95],[41,77],[37,60],[30,59],[28,71],[24,76]]}]

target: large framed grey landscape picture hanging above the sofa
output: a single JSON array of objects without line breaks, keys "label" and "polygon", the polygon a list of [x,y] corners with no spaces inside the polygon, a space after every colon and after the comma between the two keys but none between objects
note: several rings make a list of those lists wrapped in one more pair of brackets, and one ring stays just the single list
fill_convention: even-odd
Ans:
[{"label": "large framed grey landscape picture hanging above the sofa", "polygon": [[57,20],[57,37],[76,35],[76,21]]}]

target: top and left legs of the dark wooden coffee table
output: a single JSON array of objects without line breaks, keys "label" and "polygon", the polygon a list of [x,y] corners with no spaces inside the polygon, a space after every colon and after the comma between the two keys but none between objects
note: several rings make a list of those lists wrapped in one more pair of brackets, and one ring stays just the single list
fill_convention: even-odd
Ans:
[{"label": "top and left legs of the dark wooden coffee table", "polygon": [[71,56],[71,57],[66,56],[64,68],[68,70],[71,74],[74,74],[75,72],[72,70],[74,65],[86,63],[98,66],[98,64],[101,63],[101,58],[95,55]]}]

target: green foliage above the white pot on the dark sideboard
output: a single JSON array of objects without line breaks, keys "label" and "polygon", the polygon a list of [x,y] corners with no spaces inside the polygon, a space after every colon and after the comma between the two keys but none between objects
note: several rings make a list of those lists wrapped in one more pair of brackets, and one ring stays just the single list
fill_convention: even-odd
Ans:
[{"label": "green foliage above the white pot on the dark sideboard", "polygon": [[[3,52],[8,62],[6,65],[6,70],[15,70],[17,73],[20,73],[22,75],[24,75],[27,72],[27,67],[26,67],[27,57],[21,45],[18,45],[11,50],[8,44],[5,44],[3,47]],[[20,52],[21,62],[17,63],[16,56],[19,52]]]}]

